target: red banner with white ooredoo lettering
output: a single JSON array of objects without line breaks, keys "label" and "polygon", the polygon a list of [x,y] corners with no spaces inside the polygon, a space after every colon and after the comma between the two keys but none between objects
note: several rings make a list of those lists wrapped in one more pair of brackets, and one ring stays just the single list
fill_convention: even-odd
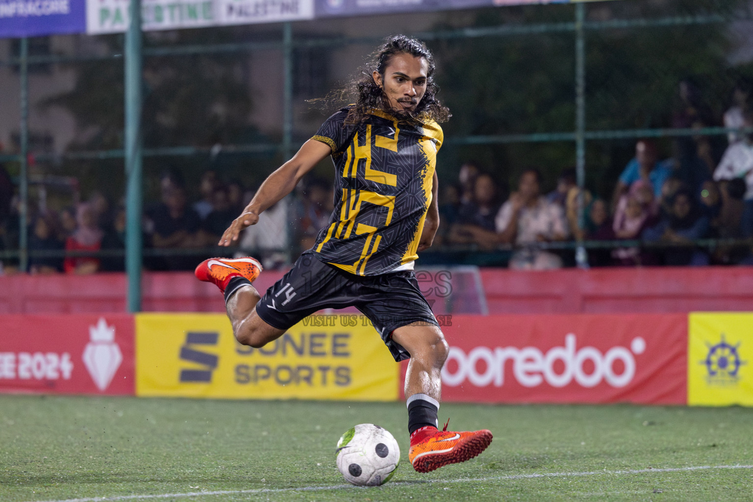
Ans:
[{"label": "red banner with white ooredoo lettering", "polygon": [[453,315],[442,330],[445,401],[687,403],[685,314]]}]

